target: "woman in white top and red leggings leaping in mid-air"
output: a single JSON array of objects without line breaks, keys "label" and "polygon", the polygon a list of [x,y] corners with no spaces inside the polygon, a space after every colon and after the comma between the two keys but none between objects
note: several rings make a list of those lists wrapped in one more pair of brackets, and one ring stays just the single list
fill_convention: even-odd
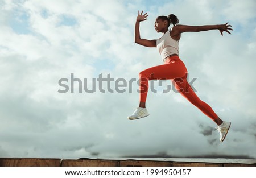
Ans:
[{"label": "woman in white top and red leggings leaping in mid-air", "polygon": [[[137,20],[135,23],[135,43],[141,44],[145,47],[156,47],[164,62],[163,65],[158,65],[156,67],[148,68],[139,73],[139,90],[140,90],[140,103],[139,107],[134,111],[132,115],[128,118],[139,119],[142,117],[147,117],[149,114],[146,109],[146,98],[148,91],[148,80],[155,79],[170,79],[174,82],[175,88],[182,96],[187,98],[193,105],[198,107],[205,115],[211,118],[217,124],[217,130],[220,133],[220,142],[223,142],[226,134],[228,133],[230,122],[222,121],[212,108],[201,101],[197,97],[196,93],[193,91],[191,86],[187,81],[187,68],[185,67],[183,61],[179,58],[179,40],[181,33],[183,32],[200,32],[208,30],[219,30],[223,36],[223,32],[230,32],[232,30],[228,23],[221,25],[210,25],[210,26],[184,26],[177,25],[179,20],[173,14],[167,16],[158,16],[155,20],[155,30],[156,32],[162,32],[162,38],[158,40],[147,40],[142,39],[139,32],[140,22],[147,20],[147,13],[143,14],[138,11]],[[174,27],[168,30],[170,24]]]}]

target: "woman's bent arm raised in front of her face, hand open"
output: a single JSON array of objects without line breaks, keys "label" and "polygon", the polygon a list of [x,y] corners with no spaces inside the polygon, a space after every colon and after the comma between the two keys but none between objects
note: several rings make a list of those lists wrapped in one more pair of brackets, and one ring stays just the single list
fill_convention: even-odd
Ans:
[{"label": "woman's bent arm raised in front of her face, hand open", "polygon": [[139,23],[147,20],[147,16],[147,13],[143,15],[143,11],[141,14],[138,11],[138,16],[135,23],[135,43],[141,44],[145,47],[156,47],[156,40],[141,39],[141,34],[139,33]]}]

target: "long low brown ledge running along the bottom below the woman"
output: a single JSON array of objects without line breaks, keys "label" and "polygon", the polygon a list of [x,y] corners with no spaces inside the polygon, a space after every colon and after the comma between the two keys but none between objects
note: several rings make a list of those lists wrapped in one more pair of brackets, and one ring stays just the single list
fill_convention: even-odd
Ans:
[{"label": "long low brown ledge running along the bottom below the woman", "polygon": [[2,167],[255,167],[256,159],[197,158],[0,158]]}]

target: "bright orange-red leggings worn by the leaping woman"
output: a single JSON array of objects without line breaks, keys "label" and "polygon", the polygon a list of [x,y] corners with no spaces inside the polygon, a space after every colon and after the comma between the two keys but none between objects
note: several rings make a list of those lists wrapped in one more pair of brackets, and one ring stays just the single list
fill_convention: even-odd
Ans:
[{"label": "bright orange-red leggings worn by the leaping woman", "polygon": [[176,90],[193,105],[198,107],[205,115],[213,121],[218,118],[210,107],[204,101],[201,101],[193,91],[187,81],[187,68],[179,56],[169,57],[163,65],[148,68],[139,73],[140,79],[140,101],[146,102],[148,92],[148,80],[171,79],[175,84]]}]

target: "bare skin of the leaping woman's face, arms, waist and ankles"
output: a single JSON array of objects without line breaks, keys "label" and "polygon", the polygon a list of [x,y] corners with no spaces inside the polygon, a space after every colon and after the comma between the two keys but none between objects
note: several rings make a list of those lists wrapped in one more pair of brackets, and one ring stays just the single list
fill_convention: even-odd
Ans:
[{"label": "bare skin of the leaping woman's face, arms, waist and ankles", "polygon": [[[138,43],[140,45],[143,45],[145,47],[156,47],[156,39],[155,40],[147,40],[142,39],[140,32],[139,32],[139,24],[140,22],[143,22],[144,20],[147,20],[147,13],[143,14],[143,11],[140,13],[138,11],[138,16],[135,23],[135,43]],[[162,20],[156,18],[155,20],[155,30],[156,32],[162,32],[165,34],[168,31],[168,22],[167,20]],[[176,25],[172,27],[172,30],[170,32],[170,35],[175,40],[180,40],[181,34],[184,32],[200,32],[200,31],[208,31],[208,30],[219,30],[221,35],[223,36],[223,32],[228,32],[228,34],[231,34],[229,30],[233,30],[230,24],[217,24],[217,25],[206,25],[206,26],[187,26],[187,25]],[[146,107],[145,102],[140,102],[139,107]],[[219,126],[222,123],[222,120],[220,118],[217,118],[214,122]]]}]

